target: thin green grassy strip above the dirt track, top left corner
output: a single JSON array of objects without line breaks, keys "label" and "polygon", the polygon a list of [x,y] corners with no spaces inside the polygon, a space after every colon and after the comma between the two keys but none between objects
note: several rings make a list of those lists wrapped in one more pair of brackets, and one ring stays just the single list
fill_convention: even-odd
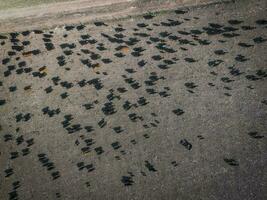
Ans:
[{"label": "thin green grassy strip above the dirt track, top left corner", "polygon": [[0,0],[0,10],[74,0]]}]

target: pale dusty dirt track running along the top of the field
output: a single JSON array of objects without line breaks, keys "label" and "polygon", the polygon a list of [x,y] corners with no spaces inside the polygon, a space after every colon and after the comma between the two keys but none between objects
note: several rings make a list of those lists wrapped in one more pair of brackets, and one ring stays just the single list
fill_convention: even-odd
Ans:
[{"label": "pale dusty dirt track running along the top of the field", "polygon": [[[200,6],[231,0],[74,0],[43,3],[0,12],[0,32],[25,29],[51,29],[71,23],[113,20],[139,16],[147,12],[172,10],[179,6]],[[25,3],[26,4],[26,3]]]}]

